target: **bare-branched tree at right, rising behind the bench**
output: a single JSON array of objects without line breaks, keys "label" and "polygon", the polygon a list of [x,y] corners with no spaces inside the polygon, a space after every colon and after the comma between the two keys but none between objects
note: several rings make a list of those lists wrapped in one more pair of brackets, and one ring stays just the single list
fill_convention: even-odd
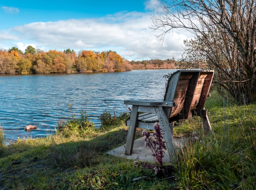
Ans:
[{"label": "bare-branched tree at right, rising behind the bench", "polygon": [[[187,43],[183,61],[214,69],[215,82],[234,98],[256,101],[256,2],[254,0],[159,0],[151,17],[162,41],[173,29],[185,29],[195,40]],[[195,60],[197,58],[197,60]]]}]

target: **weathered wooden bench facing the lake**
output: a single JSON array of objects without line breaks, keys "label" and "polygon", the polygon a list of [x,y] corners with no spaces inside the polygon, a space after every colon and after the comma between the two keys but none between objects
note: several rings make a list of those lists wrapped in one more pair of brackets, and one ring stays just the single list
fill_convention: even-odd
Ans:
[{"label": "weathered wooden bench facing the lake", "polygon": [[214,71],[176,71],[168,80],[164,101],[124,100],[124,104],[132,105],[131,117],[126,120],[129,130],[125,154],[132,154],[136,127],[154,130],[155,122],[159,122],[165,131],[163,136],[170,158],[175,154],[172,136],[175,121],[200,116],[205,133],[209,133],[212,129],[204,104],[207,96],[210,96],[208,93],[213,75]]}]

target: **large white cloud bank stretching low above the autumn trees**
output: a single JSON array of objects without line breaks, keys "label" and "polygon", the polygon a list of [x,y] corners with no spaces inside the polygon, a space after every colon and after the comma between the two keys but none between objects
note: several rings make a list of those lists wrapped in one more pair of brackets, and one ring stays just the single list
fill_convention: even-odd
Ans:
[{"label": "large white cloud bank stretching low above the autumn trees", "polygon": [[[136,60],[180,57],[184,52],[183,40],[190,39],[191,35],[186,31],[173,31],[166,35],[161,46],[152,35],[150,25],[150,13],[119,12],[102,18],[29,23],[12,28],[8,34],[16,37],[13,44],[22,51],[31,45],[48,50],[116,50],[121,56]],[[24,41],[30,44],[24,45]]]}]

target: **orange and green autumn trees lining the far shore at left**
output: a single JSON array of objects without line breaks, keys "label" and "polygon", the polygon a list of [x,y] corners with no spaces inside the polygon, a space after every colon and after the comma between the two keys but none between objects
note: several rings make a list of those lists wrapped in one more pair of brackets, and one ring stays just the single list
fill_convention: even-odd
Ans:
[{"label": "orange and green autumn trees lining the far shore at left", "polygon": [[130,71],[129,61],[114,51],[49,50],[28,46],[23,53],[16,47],[0,50],[0,74],[74,73]]}]

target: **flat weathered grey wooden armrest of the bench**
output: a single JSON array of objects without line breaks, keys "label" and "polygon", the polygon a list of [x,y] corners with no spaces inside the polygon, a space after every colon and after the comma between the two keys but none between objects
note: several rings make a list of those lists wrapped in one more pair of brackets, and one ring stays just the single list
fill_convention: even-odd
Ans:
[{"label": "flat weathered grey wooden armrest of the bench", "polygon": [[164,107],[173,107],[175,105],[175,103],[172,101],[153,101],[153,100],[124,100],[124,104],[144,105],[144,106],[164,106]]}]

